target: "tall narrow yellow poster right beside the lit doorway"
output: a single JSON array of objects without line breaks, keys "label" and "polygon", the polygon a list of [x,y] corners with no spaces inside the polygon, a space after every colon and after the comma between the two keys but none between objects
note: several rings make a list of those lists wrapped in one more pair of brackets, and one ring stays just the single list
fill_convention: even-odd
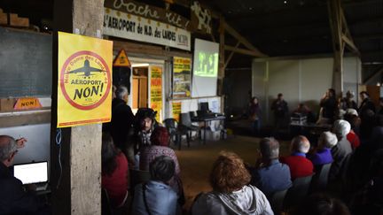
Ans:
[{"label": "tall narrow yellow poster right beside the lit doorway", "polygon": [[151,108],[157,111],[156,120],[161,121],[160,112],[162,109],[162,67],[151,66]]}]

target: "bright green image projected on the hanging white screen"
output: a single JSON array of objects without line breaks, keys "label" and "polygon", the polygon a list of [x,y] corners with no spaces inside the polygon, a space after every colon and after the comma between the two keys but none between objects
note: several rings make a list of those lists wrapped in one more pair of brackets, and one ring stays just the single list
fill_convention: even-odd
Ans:
[{"label": "bright green image projected on the hanging white screen", "polygon": [[200,77],[217,77],[218,73],[218,53],[200,51],[196,60],[194,75]]}]

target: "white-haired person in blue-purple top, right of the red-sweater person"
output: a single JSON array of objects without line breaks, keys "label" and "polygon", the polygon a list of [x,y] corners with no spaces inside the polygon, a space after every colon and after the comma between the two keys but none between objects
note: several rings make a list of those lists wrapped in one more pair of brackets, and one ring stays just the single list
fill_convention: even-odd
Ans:
[{"label": "white-haired person in blue-purple top, right of the red-sweater person", "polygon": [[338,142],[335,134],[331,132],[324,132],[320,134],[317,149],[313,150],[309,157],[309,160],[314,166],[326,165],[332,163],[331,149],[328,146],[333,146]]}]

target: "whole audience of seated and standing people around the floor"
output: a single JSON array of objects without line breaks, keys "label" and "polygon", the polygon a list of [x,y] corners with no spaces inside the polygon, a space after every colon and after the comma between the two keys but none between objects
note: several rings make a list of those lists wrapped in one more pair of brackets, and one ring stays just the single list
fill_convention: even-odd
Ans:
[{"label": "whole audience of seated and standing people around the floor", "polygon": [[[103,127],[101,185],[107,203],[113,214],[182,214],[181,167],[168,147],[168,130],[152,109],[139,109],[134,116],[126,104],[127,93],[117,88],[112,122]],[[328,109],[334,101],[326,103],[324,97],[324,116],[333,118],[326,120],[332,122],[331,131],[320,134],[317,142],[304,135],[293,137],[285,157],[280,157],[273,137],[259,142],[254,165],[233,152],[221,152],[209,175],[212,190],[195,197],[191,214],[382,214],[383,116],[369,108],[365,94],[361,93],[360,111],[348,108],[341,119]],[[8,172],[25,142],[0,135],[0,180],[7,185],[0,190],[0,211],[49,213]],[[327,173],[325,165],[330,166]],[[137,181],[133,174],[146,178]]]}]

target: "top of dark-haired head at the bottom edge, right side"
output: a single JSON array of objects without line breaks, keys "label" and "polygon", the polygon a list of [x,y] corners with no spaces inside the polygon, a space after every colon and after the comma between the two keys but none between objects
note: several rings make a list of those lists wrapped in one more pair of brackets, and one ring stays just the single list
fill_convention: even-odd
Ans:
[{"label": "top of dark-haired head at the bottom edge, right side", "polygon": [[350,215],[345,203],[325,194],[314,194],[305,198],[301,205],[288,213],[289,215]]}]

